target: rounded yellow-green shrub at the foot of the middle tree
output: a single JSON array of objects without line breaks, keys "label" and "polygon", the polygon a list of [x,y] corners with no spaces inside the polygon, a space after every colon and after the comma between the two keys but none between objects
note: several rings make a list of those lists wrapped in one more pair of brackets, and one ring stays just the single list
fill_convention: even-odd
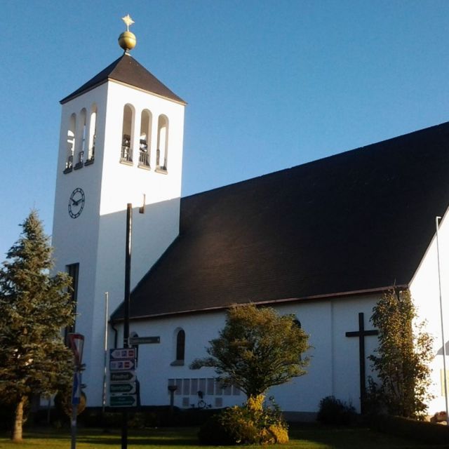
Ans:
[{"label": "rounded yellow-green shrub at the foot of the middle tree", "polygon": [[263,404],[264,396],[248,398],[243,406],[222,410],[199,431],[202,444],[272,444],[288,442],[288,427],[274,403]]}]

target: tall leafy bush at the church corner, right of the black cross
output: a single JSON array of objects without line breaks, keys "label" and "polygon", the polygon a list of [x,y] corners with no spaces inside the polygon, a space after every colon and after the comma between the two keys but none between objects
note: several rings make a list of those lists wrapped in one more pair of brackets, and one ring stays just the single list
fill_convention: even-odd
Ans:
[{"label": "tall leafy bush at the church corner, right of the black cross", "polygon": [[385,293],[373,309],[379,347],[370,360],[381,381],[375,396],[390,415],[420,418],[427,410],[433,338],[416,319],[408,289]]}]

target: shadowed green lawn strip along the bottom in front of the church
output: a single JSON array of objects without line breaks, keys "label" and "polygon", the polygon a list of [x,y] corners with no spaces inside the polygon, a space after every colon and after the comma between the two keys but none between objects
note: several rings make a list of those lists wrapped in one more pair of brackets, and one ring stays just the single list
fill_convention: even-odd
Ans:
[{"label": "shadowed green lawn strip along the bottom in front of the church", "polygon": [[[201,446],[196,440],[194,427],[180,429],[145,429],[130,430],[129,449],[207,449],[216,446]],[[36,429],[26,431],[24,442],[20,445],[11,443],[6,435],[0,436],[0,449],[17,448],[70,448],[68,430]],[[99,429],[81,429],[76,447],[79,449],[121,448],[120,431],[101,431]],[[245,448],[260,446],[244,446]],[[267,446],[262,446],[267,447]],[[268,446],[269,447],[269,446]],[[290,443],[277,446],[283,449],[432,449],[449,448],[445,446],[424,445],[411,440],[394,438],[363,428],[328,428],[312,425],[294,426],[290,429]]]}]

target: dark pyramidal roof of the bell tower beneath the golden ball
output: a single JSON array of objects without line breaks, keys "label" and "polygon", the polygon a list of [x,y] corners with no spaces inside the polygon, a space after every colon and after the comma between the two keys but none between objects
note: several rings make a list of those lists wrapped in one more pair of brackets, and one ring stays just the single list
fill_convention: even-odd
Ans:
[{"label": "dark pyramidal roof of the bell tower beneath the golden ball", "polygon": [[144,91],[155,93],[163,98],[168,98],[185,104],[185,101],[182,100],[182,98],[170,91],[167,86],[161,83],[156,76],[148,72],[148,70],[140,65],[132,56],[128,53],[123,53],[119,59],[112,62],[111,65],[108,65],[99,74],[95,75],[92,79],[87,81],[87,83],[84,83],[83,86],[76,89],[76,91],[63,98],[61,100],[62,105],[69,100],[72,100],[72,98],[90,91],[109,80],[119,81]]}]

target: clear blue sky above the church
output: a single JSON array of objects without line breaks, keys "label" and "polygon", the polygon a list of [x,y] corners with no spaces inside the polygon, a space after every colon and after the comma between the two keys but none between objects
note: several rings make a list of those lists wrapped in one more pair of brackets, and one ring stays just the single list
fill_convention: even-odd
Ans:
[{"label": "clear blue sky above the church", "polygon": [[51,234],[59,100],[121,55],[127,13],[188,102],[183,196],[449,119],[449,1],[0,5],[0,260],[31,208]]}]

